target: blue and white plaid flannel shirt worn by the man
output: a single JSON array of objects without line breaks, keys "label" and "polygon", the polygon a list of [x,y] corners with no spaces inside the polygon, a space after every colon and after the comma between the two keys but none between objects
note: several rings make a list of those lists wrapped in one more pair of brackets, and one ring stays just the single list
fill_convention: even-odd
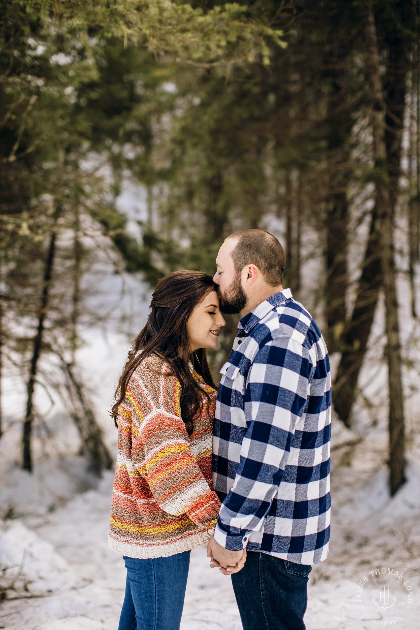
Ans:
[{"label": "blue and white plaid flannel shirt worn by the man", "polygon": [[328,555],[331,375],[326,344],[285,289],[238,324],[220,373],[215,539],[298,564]]}]

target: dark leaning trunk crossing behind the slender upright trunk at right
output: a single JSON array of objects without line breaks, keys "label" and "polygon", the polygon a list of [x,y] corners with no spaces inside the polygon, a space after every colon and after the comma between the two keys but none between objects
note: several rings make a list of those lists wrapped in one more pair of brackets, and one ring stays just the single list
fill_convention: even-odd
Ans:
[{"label": "dark leaning trunk crossing behind the slender upright trunk at right", "polygon": [[[402,121],[406,98],[406,41],[394,33],[389,42],[387,70],[383,77],[385,91],[385,181],[389,180],[389,198],[392,214],[397,201],[399,186]],[[383,96],[382,96],[383,100]],[[351,425],[351,408],[356,399],[356,387],[378,295],[382,286],[381,246],[380,246],[380,209],[378,203],[372,210],[370,231],[366,244],[365,258],[356,290],[355,306],[343,335],[342,355],[336,379],[332,387],[334,409],[344,424]]]}]

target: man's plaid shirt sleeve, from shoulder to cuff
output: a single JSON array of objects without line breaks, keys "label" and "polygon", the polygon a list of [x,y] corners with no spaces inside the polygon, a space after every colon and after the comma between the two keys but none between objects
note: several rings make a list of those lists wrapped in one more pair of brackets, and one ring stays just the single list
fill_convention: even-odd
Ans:
[{"label": "man's plaid shirt sleeve, from shoulder to cuff", "polygon": [[249,369],[241,459],[214,534],[226,549],[246,547],[249,532],[263,524],[285,471],[313,370],[309,351],[290,338],[261,348]]}]

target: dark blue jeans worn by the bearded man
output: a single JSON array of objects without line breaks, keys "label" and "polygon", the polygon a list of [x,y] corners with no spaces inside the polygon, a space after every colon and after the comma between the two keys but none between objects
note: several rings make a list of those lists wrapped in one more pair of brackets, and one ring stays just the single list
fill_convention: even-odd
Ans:
[{"label": "dark blue jeans worn by the bearded man", "polygon": [[305,630],[310,564],[248,551],[232,585],[244,630]]}]

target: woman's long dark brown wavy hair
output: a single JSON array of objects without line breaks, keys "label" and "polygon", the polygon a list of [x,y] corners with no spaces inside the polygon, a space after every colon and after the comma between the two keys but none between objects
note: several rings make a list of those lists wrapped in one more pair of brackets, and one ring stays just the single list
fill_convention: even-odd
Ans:
[{"label": "woman's long dark brown wavy hair", "polygon": [[132,350],[128,352],[128,361],[116,388],[111,414],[116,427],[118,407],[125,397],[131,375],[140,362],[156,353],[171,366],[181,383],[181,418],[187,432],[191,433],[194,416],[197,411],[203,411],[203,398],[207,397],[208,405],[210,397],[193,377],[190,362],[207,385],[215,389],[217,387],[208,367],[205,348],[195,352],[190,350],[186,324],[195,307],[215,290],[217,285],[212,277],[201,272],[173,272],[158,282],[150,303],[152,311],[146,325],[132,343]]}]

